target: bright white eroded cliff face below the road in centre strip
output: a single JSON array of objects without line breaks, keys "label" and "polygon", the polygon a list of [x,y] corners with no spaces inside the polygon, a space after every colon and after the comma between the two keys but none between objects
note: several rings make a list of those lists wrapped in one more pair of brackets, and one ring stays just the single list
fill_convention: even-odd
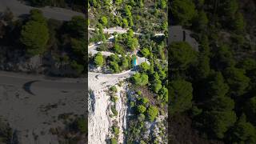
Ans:
[{"label": "bright white eroded cliff face below the road in centre strip", "polygon": [[[110,138],[114,137],[112,134],[112,126],[114,123],[118,126],[118,143],[124,142],[124,130],[126,130],[126,90],[125,86],[118,87],[116,96],[117,102],[110,101],[110,94],[107,93],[108,87],[100,90],[91,90],[88,99],[88,143],[102,144],[107,143]],[[113,116],[110,106],[114,105],[118,111],[118,115]]]}]

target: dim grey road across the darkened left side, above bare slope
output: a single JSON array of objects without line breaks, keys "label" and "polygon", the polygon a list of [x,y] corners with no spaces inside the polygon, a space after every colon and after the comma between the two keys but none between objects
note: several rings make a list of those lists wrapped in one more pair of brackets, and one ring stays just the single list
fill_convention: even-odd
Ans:
[{"label": "dim grey road across the darkened left side, above bare slope", "polygon": [[27,74],[16,74],[0,71],[0,84],[10,86],[25,86],[30,83],[31,87],[56,89],[56,90],[86,90],[86,79],[82,78],[43,78],[42,76],[31,77]]}]

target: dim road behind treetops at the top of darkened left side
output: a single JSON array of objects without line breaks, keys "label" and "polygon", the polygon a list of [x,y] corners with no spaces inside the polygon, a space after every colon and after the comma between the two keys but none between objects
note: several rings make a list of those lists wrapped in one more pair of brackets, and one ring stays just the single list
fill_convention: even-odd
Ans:
[{"label": "dim road behind treetops at the top of darkened left side", "polygon": [[[0,0],[0,12],[4,12],[7,7],[13,12],[14,16],[16,17],[19,17],[23,14],[30,14],[30,10],[35,9],[35,7],[26,6],[25,4],[18,2],[18,0]],[[36,9],[42,10],[42,13],[46,18],[53,18],[60,21],[69,21],[72,17],[76,15],[85,17],[85,14],[58,7],[46,6]]]}]

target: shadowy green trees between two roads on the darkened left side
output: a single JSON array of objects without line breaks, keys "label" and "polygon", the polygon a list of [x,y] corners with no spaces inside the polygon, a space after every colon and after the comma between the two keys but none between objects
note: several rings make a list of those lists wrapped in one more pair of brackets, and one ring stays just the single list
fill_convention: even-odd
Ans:
[{"label": "shadowy green trees between two roads on the darkened left side", "polygon": [[81,76],[86,70],[85,18],[61,22],[44,18],[35,9],[18,20],[6,10],[0,19],[1,70],[66,77]]}]

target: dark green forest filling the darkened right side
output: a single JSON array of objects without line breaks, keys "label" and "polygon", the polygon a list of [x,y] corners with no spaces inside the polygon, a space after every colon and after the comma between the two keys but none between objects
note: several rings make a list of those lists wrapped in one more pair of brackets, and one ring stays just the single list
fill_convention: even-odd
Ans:
[{"label": "dark green forest filling the darkened right side", "polygon": [[254,1],[173,0],[169,8],[172,25],[199,43],[199,51],[170,44],[170,143],[256,143]]}]

